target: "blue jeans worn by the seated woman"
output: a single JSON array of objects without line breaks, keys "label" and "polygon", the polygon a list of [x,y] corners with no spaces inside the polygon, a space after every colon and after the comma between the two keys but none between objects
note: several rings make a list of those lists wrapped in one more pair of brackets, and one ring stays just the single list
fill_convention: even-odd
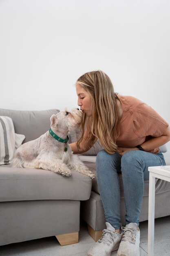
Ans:
[{"label": "blue jeans worn by the seated woman", "polygon": [[115,229],[120,222],[120,183],[117,173],[122,174],[126,205],[126,224],[139,225],[139,215],[144,195],[144,180],[149,180],[149,166],[165,165],[163,154],[131,150],[122,157],[119,153],[99,151],[96,159],[97,183],[102,198],[106,221]]}]

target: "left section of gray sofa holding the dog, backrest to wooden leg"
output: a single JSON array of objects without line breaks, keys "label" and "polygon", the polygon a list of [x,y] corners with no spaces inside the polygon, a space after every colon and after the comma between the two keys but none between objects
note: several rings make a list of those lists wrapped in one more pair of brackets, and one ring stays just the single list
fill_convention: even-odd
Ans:
[{"label": "left section of gray sofa holding the dog, backrest to wooden leg", "polygon": [[[0,109],[0,116],[11,117],[15,133],[25,135],[26,142],[49,130],[57,112]],[[48,236],[56,236],[61,245],[77,243],[80,201],[90,198],[91,186],[90,178],[75,171],[63,177],[0,165],[0,245]]]}]

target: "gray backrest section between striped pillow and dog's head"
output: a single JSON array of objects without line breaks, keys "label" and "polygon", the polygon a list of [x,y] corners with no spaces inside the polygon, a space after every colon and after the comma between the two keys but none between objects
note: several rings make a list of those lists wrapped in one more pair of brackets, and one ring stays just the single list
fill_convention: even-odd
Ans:
[{"label": "gray backrest section between striped pillow and dog's head", "polygon": [[25,135],[23,141],[37,139],[50,128],[50,117],[60,112],[58,109],[20,111],[0,109],[0,116],[11,117],[15,133]]}]

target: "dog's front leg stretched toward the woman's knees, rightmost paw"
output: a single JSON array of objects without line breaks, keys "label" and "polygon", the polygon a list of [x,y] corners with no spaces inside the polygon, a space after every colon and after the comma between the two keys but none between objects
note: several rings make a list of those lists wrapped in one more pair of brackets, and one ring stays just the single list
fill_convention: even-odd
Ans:
[{"label": "dog's front leg stretched toward the woman's knees, rightmost paw", "polygon": [[79,158],[76,155],[73,155],[71,161],[69,162],[69,167],[72,170],[77,171],[78,173],[82,173],[91,179],[95,178],[95,174],[92,173],[83,163],[79,160]]}]

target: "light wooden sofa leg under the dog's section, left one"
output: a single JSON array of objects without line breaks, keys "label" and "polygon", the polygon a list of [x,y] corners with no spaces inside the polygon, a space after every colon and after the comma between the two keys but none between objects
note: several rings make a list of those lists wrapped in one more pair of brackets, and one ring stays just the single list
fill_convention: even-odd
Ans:
[{"label": "light wooden sofa leg under the dog's section, left one", "polygon": [[79,242],[79,232],[55,236],[60,245],[71,245]]}]

